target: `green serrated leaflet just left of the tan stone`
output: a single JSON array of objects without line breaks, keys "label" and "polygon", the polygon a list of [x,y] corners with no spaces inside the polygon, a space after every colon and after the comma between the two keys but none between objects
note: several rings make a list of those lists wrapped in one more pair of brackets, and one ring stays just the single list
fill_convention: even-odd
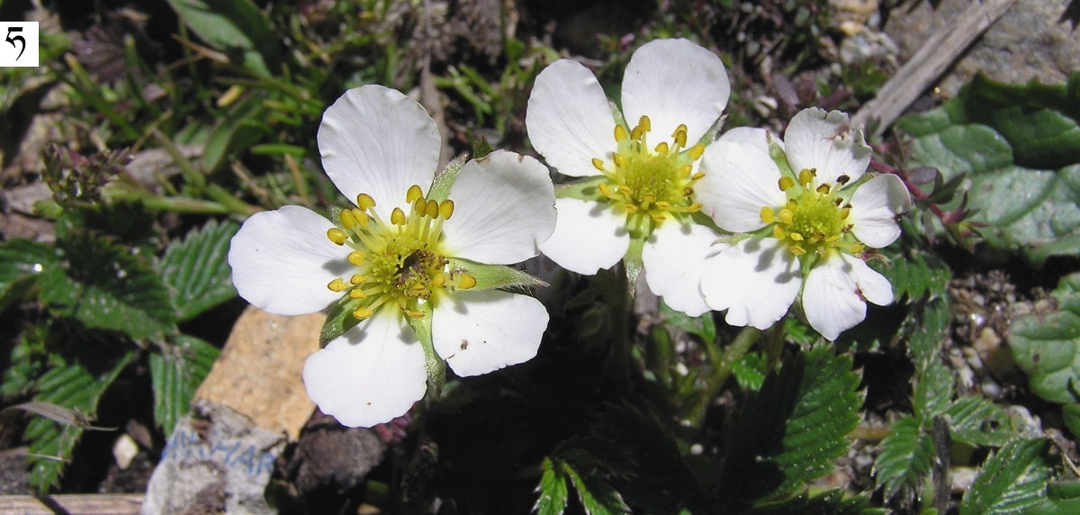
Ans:
[{"label": "green serrated leaflet just left of the tan stone", "polygon": [[220,351],[199,338],[176,337],[175,344],[150,355],[150,380],[153,387],[153,419],[173,433],[176,421],[188,412],[195,389],[210,374]]}]

